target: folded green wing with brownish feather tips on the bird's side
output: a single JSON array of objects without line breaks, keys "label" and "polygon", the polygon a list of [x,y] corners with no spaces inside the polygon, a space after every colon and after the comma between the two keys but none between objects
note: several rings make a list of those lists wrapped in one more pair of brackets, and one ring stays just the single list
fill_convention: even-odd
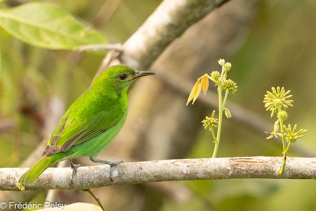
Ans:
[{"label": "folded green wing with brownish feather tips on the bird's side", "polygon": [[77,146],[95,136],[100,135],[108,128],[115,125],[123,116],[111,115],[111,112],[102,111],[88,119],[76,118],[76,112],[66,112],[55,128],[43,156],[52,156],[58,152],[66,152],[71,147]]}]

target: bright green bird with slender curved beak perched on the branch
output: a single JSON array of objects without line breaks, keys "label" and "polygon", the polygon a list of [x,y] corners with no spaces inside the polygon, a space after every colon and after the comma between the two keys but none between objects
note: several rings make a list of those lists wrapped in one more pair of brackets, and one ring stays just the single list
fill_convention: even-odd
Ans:
[{"label": "bright green bird with slender curved beak perched on the branch", "polygon": [[50,165],[69,160],[72,177],[79,165],[71,158],[89,157],[95,163],[108,164],[110,179],[113,167],[122,161],[105,161],[97,155],[115,138],[127,116],[127,89],[137,78],[155,75],[115,65],[103,71],[93,86],[69,107],[55,128],[42,157],[19,179],[18,184],[32,183]]}]

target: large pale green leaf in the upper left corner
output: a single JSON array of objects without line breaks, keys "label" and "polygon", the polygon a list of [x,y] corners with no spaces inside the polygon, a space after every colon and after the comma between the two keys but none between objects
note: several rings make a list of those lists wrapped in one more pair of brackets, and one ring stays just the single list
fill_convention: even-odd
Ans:
[{"label": "large pale green leaf in the upper left corner", "polygon": [[45,2],[0,9],[0,26],[36,47],[72,49],[108,43],[99,32],[88,28],[56,5]]}]

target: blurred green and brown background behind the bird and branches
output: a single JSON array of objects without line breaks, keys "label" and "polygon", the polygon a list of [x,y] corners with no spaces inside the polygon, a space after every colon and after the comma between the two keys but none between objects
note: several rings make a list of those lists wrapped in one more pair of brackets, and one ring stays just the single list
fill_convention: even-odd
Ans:
[{"label": "blurred green and brown background behind the bird and branches", "polygon": [[[0,8],[30,1],[0,1]],[[124,43],[161,3],[157,0],[51,0],[107,36]],[[106,7],[104,6],[106,5]],[[253,121],[269,122],[260,128],[240,119],[224,118],[217,157],[281,156],[282,144],[266,140],[275,119],[265,111],[263,98],[271,86],[293,94],[286,124],[308,129],[290,148],[289,156],[315,157],[316,126],[316,2],[237,1],[214,10],[170,44],[153,64],[157,77],[131,87],[127,126],[99,158],[124,162],[208,158],[211,133],[201,124],[210,116],[210,104],[199,98],[185,106],[194,82],[204,73],[219,70],[219,58],[232,63],[228,74],[238,85],[227,107],[237,104],[254,112]],[[63,112],[91,84],[106,52],[78,53],[47,50],[17,40],[0,28],[0,167],[18,167],[52,133]],[[161,76],[159,76],[161,75]],[[179,83],[176,87],[175,81]],[[148,89],[139,91],[142,87]],[[216,89],[210,86],[215,93]],[[141,94],[141,96],[140,96]],[[159,97],[158,97],[159,96]],[[157,102],[158,101],[158,102]],[[216,99],[209,99],[216,101]],[[159,104],[160,103],[160,104]],[[137,109],[148,113],[139,115]],[[130,120],[129,120],[130,119]],[[136,121],[136,122],[135,122]],[[124,136],[128,125],[146,130]],[[138,128],[138,127],[137,127]],[[262,130],[264,128],[264,130]],[[141,137],[141,139],[140,139]],[[46,140],[47,141],[47,140]],[[299,147],[298,147],[299,146]],[[77,163],[92,165],[87,158]],[[27,167],[27,166],[23,166]],[[314,210],[316,181],[231,179],[160,182],[94,189],[107,210]],[[28,191],[27,201],[43,202],[46,191]],[[19,199],[1,193],[1,201]],[[62,203],[95,203],[88,193],[58,190]],[[17,201],[18,202],[18,201]]]}]

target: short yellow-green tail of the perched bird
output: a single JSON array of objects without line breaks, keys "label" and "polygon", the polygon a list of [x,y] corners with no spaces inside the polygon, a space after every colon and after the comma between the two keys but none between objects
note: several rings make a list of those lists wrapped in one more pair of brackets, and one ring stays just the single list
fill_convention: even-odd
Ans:
[{"label": "short yellow-green tail of the perched bird", "polygon": [[41,157],[29,170],[27,170],[23,176],[19,179],[17,183],[20,184],[29,184],[40,176],[43,171],[45,171],[50,165],[55,163],[55,160],[52,157]]}]

